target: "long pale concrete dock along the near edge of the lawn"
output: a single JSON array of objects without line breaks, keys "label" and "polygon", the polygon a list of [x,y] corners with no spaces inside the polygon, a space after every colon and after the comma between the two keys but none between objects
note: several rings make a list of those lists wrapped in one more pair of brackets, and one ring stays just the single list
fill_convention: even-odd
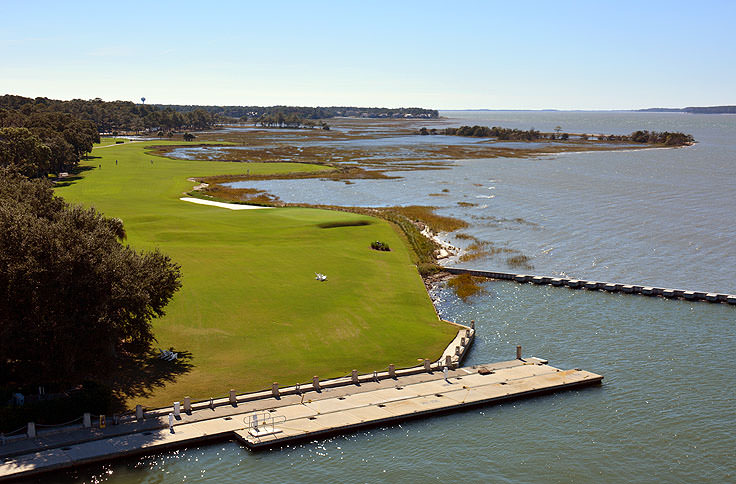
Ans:
[{"label": "long pale concrete dock along the near edge of the lawn", "polygon": [[[601,375],[561,370],[539,358],[420,373],[358,378],[336,386],[314,385],[297,393],[260,398],[130,422],[115,435],[90,434],[76,442],[51,440],[36,451],[0,447],[0,480],[130,457],[212,440],[237,439],[251,449],[280,446],[358,428],[488,405],[540,393],[600,383]],[[373,378],[375,377],[375,378]],[[118,426],[118,427],[122,427]],[[81,431],[80,431],[81,432]],[[82,435],[82,433],[80,433]]]}]

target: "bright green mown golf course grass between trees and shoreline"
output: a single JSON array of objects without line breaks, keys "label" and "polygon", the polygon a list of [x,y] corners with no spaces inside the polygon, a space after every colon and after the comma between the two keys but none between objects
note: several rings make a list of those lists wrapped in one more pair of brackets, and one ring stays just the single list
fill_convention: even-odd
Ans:
[{"label": "bright green mown golf course grass between trees and shoreline", "polygon": [[[440,355],[456,329],[438,320],[387,222],[329,210],[233,211],[179,200],[193,186],[189,177],[325,167],[144,153],[160,144],[166,142],[95,149],[99,158],[84,163],[92,169],[57,190],[70,202],[120,217],[131,246],[158,247],[182,266],[183,288],[154,327],[160,347],[191,352],[193,369],[129,405],[161,406],[185,395],[199,400],[230,388],[285,386],[390,363],[413,366],[417,358]],[[375,240],[391,252],[371,250]],[[315,272],[328,280],[315,280]]]}]

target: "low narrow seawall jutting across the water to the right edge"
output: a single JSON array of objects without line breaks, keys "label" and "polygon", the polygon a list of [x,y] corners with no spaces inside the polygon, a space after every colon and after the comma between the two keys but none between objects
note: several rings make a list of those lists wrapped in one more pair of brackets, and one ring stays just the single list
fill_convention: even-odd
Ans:
[{"label": "low narrow seawall jutting across the water to the right edge", "polygon": [[736,295],[687,291],[685,289],[668,289],[663,287],[642,286],[636,284],[620,284],[614,282],[586,281],[582,279],[571,279],[565,277],[536,276],[529,274],[514,274],[510,272],[480,271],[475,269],[462,269],[459,267],[445,267],[444,270],[450,274],[469,274],[471,276],[486,277],[488,279],[499,279],[515,281],[519,283],[531,283],[539,285],[551,285],[557,287],[569,287],[570,289],[587,289],[589,291],[622,292],[624,294],[638,294],[642,296],[659,296],[668,299],[685,299],[688,301],[703,301],[710,303],[727,303],[736,305]]}]

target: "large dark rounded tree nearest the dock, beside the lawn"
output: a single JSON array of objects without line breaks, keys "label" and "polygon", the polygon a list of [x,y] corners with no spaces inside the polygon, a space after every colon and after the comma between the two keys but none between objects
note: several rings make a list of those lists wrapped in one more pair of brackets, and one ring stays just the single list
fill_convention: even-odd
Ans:
[{"label": "large dark rounded tree nearest the dock, beside the lawn", "polygon": [[68,388],[149,349],[179,266],[124,238],[119,219],[0,168],[0,386]]}]

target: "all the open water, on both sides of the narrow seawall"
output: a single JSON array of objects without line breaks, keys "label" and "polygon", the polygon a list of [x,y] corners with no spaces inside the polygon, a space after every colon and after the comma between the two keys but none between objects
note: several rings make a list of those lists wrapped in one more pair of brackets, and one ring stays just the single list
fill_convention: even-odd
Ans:
[{"label": "all the open water, on both sides of the narrow seawall", "polygon": [[[681,149],[456,160],[355,185],[267,182],[285,200],[425,204],[532,257],[534,273],[736,292],[736,117],[447,112],[448,125],[692,133]],[[301,181],[305,182],[305,181]],[[446,196],[430,196],[442,193]],[[460,207],[458,202],[477,203]],[[479,259],[467,266],[505,269]],[[253,453],[234,442],[85,468],[44,482],[734,482],[736,307],[511,282],[445,319],[476,321],[467,364],[515,345],[603,385]]]}]

